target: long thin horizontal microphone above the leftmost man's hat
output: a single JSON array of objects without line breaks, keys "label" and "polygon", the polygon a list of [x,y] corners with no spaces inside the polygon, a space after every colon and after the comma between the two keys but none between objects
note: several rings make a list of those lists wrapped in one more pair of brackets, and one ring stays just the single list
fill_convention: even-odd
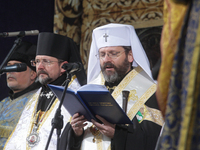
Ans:
[{"label": "long thin horizontal microphone above the leftmost man's hat", "polygon": [[38,30],[31,31],[17,31],[17,32],[3,32],[0,33],[1,37],[12,37],[12,36],[25,36],[25,35],[38,35]]}]

